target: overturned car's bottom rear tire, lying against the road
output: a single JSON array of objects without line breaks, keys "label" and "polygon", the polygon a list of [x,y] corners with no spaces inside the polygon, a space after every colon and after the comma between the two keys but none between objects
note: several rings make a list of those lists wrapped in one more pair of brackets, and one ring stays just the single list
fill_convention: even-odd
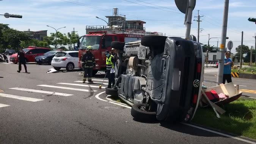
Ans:
[{"label": "overturned car's bottom rear tire, lying against the road", "polygon": [[140,109],[145,104],[133,104],[131,115],[139,121],[156,121],[156,112],[147,112]]}]

